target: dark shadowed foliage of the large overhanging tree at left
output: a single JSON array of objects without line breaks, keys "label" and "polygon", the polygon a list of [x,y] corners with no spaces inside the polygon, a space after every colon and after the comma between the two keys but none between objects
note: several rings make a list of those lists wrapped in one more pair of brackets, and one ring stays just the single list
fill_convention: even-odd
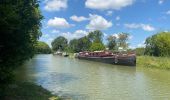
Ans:
[{"label": "dark shadowed foliage of the large overhanging tree at left", "polygon": [[34,46],[41,36],[38,3],[37,0],[0,3],[0,89],[12,80],[13,69],[35,53]]}]

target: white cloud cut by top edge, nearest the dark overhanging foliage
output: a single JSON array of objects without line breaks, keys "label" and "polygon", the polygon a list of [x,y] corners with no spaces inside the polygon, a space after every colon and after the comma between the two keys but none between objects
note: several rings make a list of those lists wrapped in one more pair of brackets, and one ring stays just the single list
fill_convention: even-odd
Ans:
[{"label": "white cloud cut by top edge, nearest the dark overhanging foliage", "polygon": [[48,0],[45,3],[46,11],[60,11],[67,8],[67,0]]}]

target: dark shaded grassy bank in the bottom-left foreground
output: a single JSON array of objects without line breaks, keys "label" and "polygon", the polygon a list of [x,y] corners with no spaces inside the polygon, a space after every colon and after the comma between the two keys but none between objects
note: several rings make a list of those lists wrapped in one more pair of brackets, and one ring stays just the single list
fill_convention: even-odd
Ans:
[{"label": "dark shaded grassy bank in the bottom-left foreground", "polygon": [[3,100],[60,100],[41,86],[29,82],[9,85]]}]

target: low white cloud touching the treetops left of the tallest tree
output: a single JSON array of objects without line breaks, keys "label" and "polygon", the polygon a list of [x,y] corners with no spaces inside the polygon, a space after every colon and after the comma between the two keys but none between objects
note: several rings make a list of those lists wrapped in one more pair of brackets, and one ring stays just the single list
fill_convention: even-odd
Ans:
[{"label": "low white cloud touching the treetops left of the tallest tree", "polygon": [[67,38],[70,41],[72,39],[79,39],[81,37],[84,37],[84,36],[88,35],[88,32],[86,32],[84,30],[76,30],[73,33],[65,32],[65,33],[61,33],[60,35],[64,36],[65,38]]}]

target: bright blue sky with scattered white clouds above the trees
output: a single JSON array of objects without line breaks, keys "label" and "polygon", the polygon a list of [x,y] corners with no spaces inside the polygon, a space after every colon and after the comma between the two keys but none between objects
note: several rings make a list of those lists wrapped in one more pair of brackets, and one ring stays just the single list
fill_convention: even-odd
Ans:
[{"label": "bright blue sky with scattered white clouds above the trees", "polygon": [[110,35],[129,33],[130,48],[144,46],[147,37],[170,31],[170,0],[41,0],[42,36],[51,45],[64,36],[70,41],[101,30]]}]

